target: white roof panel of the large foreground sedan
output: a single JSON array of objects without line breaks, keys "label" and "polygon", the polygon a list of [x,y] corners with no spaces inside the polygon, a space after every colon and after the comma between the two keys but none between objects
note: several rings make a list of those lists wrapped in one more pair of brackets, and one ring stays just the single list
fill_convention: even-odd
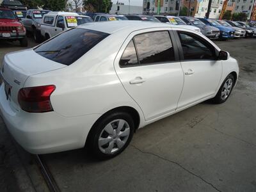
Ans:
[{"label": "white roof panel of the large foreground sedan", "polygon": [[104,33],[115,33],[116,31],[136,31],[147,28],[170,28],[170,24],[162,22],[145,22],[143,20],[115,20],[111,22],[91,22],[77,26],[77,28],[91,29]]}]

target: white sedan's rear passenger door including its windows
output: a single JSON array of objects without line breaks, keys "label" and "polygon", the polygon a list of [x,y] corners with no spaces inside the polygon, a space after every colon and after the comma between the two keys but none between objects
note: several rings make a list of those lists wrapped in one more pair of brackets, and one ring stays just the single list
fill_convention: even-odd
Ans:
[{"label": "white sedan's rear passenger door including its windows", "polygon": [[129,35],[116,56],[115,69],[145,120],[177,108],[184,77],[168,30],[150,29]]}]

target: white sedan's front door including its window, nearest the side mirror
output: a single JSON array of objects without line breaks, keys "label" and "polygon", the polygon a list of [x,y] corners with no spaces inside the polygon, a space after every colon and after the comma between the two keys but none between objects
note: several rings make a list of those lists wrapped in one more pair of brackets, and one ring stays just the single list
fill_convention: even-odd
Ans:
[{"label": "white sedan's front door including its window, nearest the side mirror", "polygon": [[212,97],[218,88],[222,73],[222,61],[218,51],[204,38],[177,31],[177,44],[184,71],[184,86],[178,108]]}]

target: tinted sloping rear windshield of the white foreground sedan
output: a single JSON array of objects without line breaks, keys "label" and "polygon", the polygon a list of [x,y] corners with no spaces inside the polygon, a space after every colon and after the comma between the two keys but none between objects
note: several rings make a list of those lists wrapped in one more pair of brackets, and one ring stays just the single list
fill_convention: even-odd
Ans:
[{"label": "tinted sloping rear windshield of the white foreground sedan", "polygon": [[41,56],[64,65],[71,65],[109,34],[73,28],[55,36],[34,49]]}]

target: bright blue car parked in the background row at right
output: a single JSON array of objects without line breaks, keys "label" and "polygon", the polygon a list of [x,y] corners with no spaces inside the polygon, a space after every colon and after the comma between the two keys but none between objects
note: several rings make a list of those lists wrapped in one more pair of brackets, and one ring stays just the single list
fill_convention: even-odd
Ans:
[{"label": "bright blue car parked in the background row at right", "polygon": [[220,38],[221,39],[227,39],[227,38],[234,38],[235,30],[227,27],[227,26],[221,26],[219,22],[217,22],[214,19],[202,19],[198,18],[208,26],[214,26],[215,28],[220,29]]}]

